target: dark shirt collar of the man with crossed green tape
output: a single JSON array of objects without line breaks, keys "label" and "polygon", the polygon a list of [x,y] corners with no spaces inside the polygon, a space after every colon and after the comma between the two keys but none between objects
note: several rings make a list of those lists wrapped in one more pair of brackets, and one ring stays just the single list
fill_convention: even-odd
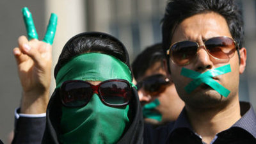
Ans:
[{"label": "dark shirt collar of the man with crossed green tape", "polygon": [[[241,129],[244,129],[245,131],[252,134],[254,138],[256,138],[256,115],[255,112],[253,111],[251,104],[248,102],[240,102],[240,109],[242,117],[234,125],[232,125],[232,127],[240,127]],[[185,108],[182,109],[179,117],[175,121],[175,124],[173,125],[173,128],[169,132],[168,136],[170,136],[173,131],[180,128],[187,128],[190,131],[193,131],[193,128],[189,123]]]}]

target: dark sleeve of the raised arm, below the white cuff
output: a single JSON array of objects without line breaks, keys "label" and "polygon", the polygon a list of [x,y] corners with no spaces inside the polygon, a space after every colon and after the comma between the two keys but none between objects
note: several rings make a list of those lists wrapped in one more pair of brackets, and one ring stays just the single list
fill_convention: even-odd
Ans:
[{"label": "dark sleeve of the raised arm, below the white cuff", "polygon": [[15,130],[12,144],[40,144],[45,130],[45,117],[15,118]]}]

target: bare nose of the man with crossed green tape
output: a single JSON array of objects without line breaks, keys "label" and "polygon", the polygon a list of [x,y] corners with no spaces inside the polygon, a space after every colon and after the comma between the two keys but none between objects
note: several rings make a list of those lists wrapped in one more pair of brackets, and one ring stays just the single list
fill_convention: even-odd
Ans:
[{"label": "bare nose of the man with crossed green tape", "polygon": [[204,72],[206,69],[211,69],[212,66],[211,56],[208,54],[204,45],[200,46],[195,60],[195,70],[197,72]]}]

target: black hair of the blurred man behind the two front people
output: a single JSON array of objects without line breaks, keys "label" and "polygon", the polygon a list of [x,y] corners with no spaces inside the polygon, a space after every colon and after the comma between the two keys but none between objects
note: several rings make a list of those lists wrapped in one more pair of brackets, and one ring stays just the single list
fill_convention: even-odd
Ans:
[{"label": "black hair of the blurred man behind the two front people", "polygon": [[132,63],[132,72],[134,78],[138,79],[144,76],[146,70],[156,62],[164,59],[162,44],[154,44],[142,51]]}]

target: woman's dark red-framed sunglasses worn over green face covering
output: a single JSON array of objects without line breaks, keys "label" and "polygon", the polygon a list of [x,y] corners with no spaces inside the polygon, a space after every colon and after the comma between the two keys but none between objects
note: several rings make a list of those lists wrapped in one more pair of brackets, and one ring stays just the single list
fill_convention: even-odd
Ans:
[{"label": "woman's dark red-framed sunglasses worn over green face covering", "polygon": [[107,106],[120,107],[129,104],[132,88],[124,79],[109,79],[98,85],[86,81],[65,81],[60,87],[60,96],[63,106],[83,107],[88,104],[93,93],[99,95],[100,100]]}]

